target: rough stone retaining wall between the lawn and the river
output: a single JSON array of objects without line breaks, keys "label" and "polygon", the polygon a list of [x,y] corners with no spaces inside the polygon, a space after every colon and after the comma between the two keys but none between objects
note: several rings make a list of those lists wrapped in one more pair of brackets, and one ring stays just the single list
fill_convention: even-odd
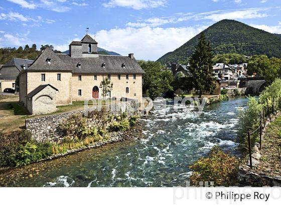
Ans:
[{"label": "rough stone retaining wall between the lawn and the river", "polygon": [[[131,105],[138,104],[138,102],[135,102],[133,100],[131,101],[124,101],[120,102],[120,104],[112,104],[107,107],[107,113],[106,115],[112,116],[114,115],[120,115],[123,112],[126,111]],[[109,110],[108,110],[109,108]],[[114,112],[111,112],[111,108],[116,108]],[[75,111],[75,112],[69,112],[69,113],[62,113],[57,115],[50,115],[46,117],[40,117],[40,118],[33,118],[33,119],[27,119],[26,120],[26,129],[27,131],[30,131],[32,134],[32,137],[39,141],[39,142],[60,142],[64,137],[63,134],[59,131],[59,126],[63,122],[65,122],[69,117],[75,114],[84,115],[84,110],[82,111]],[[131,114],[138,114],[138,111],[131,112]],[[110,120],[107,121],[107,124],[109,125],[111,123]],[[104,123],[100,119],[88,119],[87,120],[87,126],[89,128],[91,127],[106,127],[107,125],[104,125]]]}]

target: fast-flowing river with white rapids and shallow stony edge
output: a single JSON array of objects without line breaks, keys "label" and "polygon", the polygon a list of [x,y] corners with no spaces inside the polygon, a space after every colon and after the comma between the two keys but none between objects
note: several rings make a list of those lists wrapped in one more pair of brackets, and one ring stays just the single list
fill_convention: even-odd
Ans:
[{"label": "fast-flowing river with white rapids and shallow stony edge", "polygon": [[86,150],[0,174],[1,186],[185,186],[189,165],[214,145],[239,156],[238,110],[247,98],[174,111],[173,101],[141,120],[143,138]]}]

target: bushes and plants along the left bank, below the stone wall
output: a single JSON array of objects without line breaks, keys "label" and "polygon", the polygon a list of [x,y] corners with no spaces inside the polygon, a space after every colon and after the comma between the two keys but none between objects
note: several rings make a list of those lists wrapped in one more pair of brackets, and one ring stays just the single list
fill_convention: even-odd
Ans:
[{"label": "bushes and plants along the left bank, below the stone wall", "polygon": [[0,167],[23,166],[69,150],[106,141],[110,132],[126,131],[135,126],[139,118],[137,115],[128,117],[126,113],[111,117],[104,115],[104,118],[99,119],[104,127],[89,126],[88,121],[97,118],[97,115],[102,116],[94,111],[88,117],[82,115],[69,117],[59,127],[59,132],[64,137],[59,142],[38,142],[26,130],[10,133],[0,131]]}]

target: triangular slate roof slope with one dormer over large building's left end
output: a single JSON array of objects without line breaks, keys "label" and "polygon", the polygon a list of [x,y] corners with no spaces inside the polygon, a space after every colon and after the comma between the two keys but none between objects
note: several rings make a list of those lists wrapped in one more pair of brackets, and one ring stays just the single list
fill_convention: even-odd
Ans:
[{"label": "triangular slate roof slope with one dormer over large building's left end", "polygon": [[[47,59],[51,59],[51,63],[47,62]],[[43,52],[34,60],[34,62],[28,67],[28,70],[65,70],[71,71],[72,68],[67,65],[58,57],[54,51],[47,47]]]}]

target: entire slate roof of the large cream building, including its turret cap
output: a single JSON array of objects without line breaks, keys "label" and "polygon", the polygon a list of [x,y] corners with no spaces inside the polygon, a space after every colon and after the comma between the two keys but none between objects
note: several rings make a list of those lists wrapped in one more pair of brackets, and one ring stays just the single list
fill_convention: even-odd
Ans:
[{"label": "entire slate roof of the large cream building, including its turret cap", "polygon": [[[97,43],[86,34],[81,42],[73,41],[70,45]],[[79,63],[79,66],[78,66]],[[131,56],[97,55],[95,57],[72,58],[68,54],[56,54],[47,47],[28,67],[27,70],[64,70],[72,73],[145,73]]]}]

